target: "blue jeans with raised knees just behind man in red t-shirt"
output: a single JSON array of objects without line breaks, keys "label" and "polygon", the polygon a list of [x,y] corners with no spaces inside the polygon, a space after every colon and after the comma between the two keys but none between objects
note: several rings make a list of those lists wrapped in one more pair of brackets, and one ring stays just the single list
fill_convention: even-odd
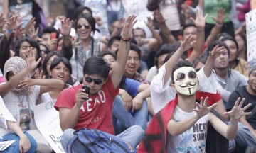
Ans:
[{"label": "blue jeans with raised knees just behind man in red t-shirt", "polygon": [[149,113],[146,100],[143,101],[142,108],[134,111],[132,115],[125,109],[122,98],[120,96],[116,96],[114,99],[112,113],[114,132],[116,134],[123,132],[132,125],[139,125],[146,130],[146,123]]}]

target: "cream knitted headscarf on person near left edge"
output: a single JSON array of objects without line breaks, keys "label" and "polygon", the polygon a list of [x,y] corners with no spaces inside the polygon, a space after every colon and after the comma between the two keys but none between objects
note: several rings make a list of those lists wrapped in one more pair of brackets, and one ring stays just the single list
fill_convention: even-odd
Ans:
[{"label": "cream knitted headscarf on person near left edge", "polygon": [[[7,81],[9,81],[7,79],[7,73],[8,72],[14,72],[14,75],[18,74],[19,72],[21,72],[23,69],[26,69],[27,64],[26,61],[23,60],[21,57],[11,57],[9,58],[9,60],[6,61],[6,63],[4,64],[4,77]],[[31,77],[31,75],[28,73],[26,74],[26,77]],[[20,89],[16,89],[16,87],[12,90],[15,92],[18,92],[19,94],[28,94],[30,91],[30,87],[28,86],[23,86]]]}]

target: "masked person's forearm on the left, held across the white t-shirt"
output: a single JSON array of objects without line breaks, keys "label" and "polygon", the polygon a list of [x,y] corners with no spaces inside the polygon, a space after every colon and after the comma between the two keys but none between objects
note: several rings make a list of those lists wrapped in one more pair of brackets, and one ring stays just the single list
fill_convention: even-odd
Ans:
[{"label": "masked person's forearm on the left, held across the white t-shirt", "polygon": [[190,129],[198,120],[199,118],[196,114],[186,120],[178,122],[171,119],[167,125],[167,130],[172,136],[176,137]]}]

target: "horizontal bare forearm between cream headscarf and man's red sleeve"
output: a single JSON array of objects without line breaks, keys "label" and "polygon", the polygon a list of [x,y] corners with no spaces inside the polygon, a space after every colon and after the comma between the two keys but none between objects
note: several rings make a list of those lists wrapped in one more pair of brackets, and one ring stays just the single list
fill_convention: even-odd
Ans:
[{"label": "horizontal bare forearm between cream headscarf and man's red sleeve", "polygon": [[58,79],[33,79],[31,85],[47,86],[54,89],[63,89],[65,83]]}]

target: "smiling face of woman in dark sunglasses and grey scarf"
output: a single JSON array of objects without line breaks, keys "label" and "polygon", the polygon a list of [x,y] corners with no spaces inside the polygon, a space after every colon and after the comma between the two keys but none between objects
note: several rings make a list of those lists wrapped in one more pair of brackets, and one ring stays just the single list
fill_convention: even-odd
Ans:
[{"label": "smiling face of woman in dark sunglasses and grey scarf", "polygon": [[92,26],[85,18],[79,18],[78,23],[76,25],[78,37],[80,39],[87,39],[90,37],[90,33],[92,31]]}]

